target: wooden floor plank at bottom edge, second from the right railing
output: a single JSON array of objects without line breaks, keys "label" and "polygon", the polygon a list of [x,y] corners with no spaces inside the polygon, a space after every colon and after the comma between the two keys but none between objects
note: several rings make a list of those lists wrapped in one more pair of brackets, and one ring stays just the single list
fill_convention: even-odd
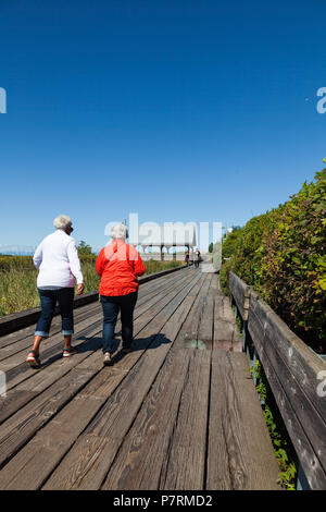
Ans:
[{"label": "wooden floor plank at bottom edge, second from the right railing", "polygon": [[[183,352],[185,356],[187,351]],[[163,490],[204,488],[211,351],[191,351],[191,355],[173,437],[161,470],[159,488]]]}]

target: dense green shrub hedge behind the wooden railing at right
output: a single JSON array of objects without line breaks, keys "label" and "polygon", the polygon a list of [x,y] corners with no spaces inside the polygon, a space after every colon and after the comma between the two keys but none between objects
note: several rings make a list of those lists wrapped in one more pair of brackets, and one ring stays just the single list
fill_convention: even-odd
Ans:
[{"label": "dense green shrub hedge behind the wooden railing at right", "polygon": [[[223,245],[231,270],[316,352],[326,352],[326,169],[284,205],[253,217]],[[227,255],[227,256],[226,256]]]}]

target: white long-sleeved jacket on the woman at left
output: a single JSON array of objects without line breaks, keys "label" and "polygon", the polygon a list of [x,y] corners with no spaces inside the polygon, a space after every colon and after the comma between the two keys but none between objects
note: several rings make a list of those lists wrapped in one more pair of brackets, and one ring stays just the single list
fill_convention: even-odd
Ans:
[{"label": "white long-sleeved jacket on the woman at left", "polygon": [[83,283],[83,273],[75,240],[63,230],[46,236],[34,254],[39,270],[37,287],[74,288]]}]

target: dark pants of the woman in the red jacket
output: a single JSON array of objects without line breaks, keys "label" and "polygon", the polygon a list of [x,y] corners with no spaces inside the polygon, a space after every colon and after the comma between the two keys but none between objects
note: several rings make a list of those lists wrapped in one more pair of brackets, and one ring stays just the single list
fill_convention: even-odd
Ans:
[{"label": "dark pants of the woman in the red jacket", "polygon": [[103,353],[112,350],[118,312],[121,312],[123,348],[130,345],[137,296],[138,292],[128,293],[127,295],[100,296],[103,308]]}]

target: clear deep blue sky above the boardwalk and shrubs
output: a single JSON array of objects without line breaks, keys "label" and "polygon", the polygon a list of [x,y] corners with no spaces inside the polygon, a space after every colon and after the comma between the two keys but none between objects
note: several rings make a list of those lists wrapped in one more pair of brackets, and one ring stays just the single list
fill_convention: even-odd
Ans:
[{"label": "clear deep blue sky above the boardwalk and shrubs", "polygon": [[242,225],[312,181],[326,4],[269,3],[2,0],[0,245],[61,212],[96,249],[129,212]]}]

